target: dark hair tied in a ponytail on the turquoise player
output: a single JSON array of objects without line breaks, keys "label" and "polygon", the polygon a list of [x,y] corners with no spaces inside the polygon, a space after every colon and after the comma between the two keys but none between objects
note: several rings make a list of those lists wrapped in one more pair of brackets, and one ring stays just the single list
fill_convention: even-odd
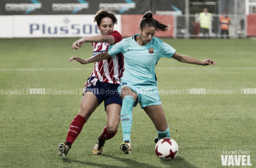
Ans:
[{"label": "dark hair tied in a ponytail on the turquoise player", "polygon": [[146,12],[142,19],[141,22],[139,24],[139,27],[141,28],[141,30],[143,30],[143,28],[145,28],[146,26],[148,27],[154,27],[156,28],[156,31],[168,31],[170,30],[170,26],[169,25],[164,25],[161,22],[159,22],[158,20],[155,20],[153,18],[153,13],[151,11]]}]

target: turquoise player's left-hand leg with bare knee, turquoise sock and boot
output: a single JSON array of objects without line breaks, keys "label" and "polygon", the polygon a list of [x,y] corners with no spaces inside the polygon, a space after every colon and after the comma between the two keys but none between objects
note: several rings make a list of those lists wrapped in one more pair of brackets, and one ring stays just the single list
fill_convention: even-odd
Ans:
[{"label": "turquoise player's left-hand leg with bare knee, turquoise sock and boot", "polygon": [[137,94],[129,87],[123,87],[121,89],[121,99],[123,99],[121,109],[123,143],[120,145],[120,149],[125,154],[131,153],[131,126],[133,122],[132,109],[134,102],[137,100],[137,97]]}]

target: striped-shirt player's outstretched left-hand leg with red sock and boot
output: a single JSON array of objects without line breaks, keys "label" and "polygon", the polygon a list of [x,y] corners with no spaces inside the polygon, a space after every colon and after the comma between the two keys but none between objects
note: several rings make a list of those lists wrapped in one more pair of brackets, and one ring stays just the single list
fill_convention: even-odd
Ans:
[{"label": "striped-shirt player's outstretched left-hand leg with red sock and boot", "polygon": [[67,132],[67,138],[65,143],[60,143],[58,146],[59,155],[65,157],[71,148],[74,140],[77,138],[79,133],[82,131],[84,124],[90,118],[91,114],[98,107],[98,99],[96,95],[92,92],[87,91],[81,101],[81,108],[79,113],[69,126],[69,131]]}]

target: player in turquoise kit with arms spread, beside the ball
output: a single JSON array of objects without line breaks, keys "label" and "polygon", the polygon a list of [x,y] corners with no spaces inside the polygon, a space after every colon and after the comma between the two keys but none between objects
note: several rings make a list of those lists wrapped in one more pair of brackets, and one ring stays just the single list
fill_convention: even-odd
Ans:
[{"label": "player in turquoise kit with arms spread, beside the ball", "polygon": [[158,132],[156,140],[170,137],[160,95],[158,94],[155,75],[156,63],[161,57],[174,58],[179,62],[195,65],[216,65],[216,62],[210,58],[201,61],[181,55],[172,46],[154,37],[156,30],[166,31],[169,28],[169,26],[155,20],[152,17],[152,13],[147,12],[139,24],[139,34],[122,40],[109,48],[108,52],[98,54],[88,60],[82,60],[77,57],[69,58],[69,62],[75,60],[82,64],[88,64],[104,60],[119,52],[123,53],[125,71],[119,86],[121,99],[123,99],[121,109],[123,143],[120,145],[120,149],[126,154],[131,153],[132,108],[137,103],[140,103],[141,108],[143,108],[154,123]]}]

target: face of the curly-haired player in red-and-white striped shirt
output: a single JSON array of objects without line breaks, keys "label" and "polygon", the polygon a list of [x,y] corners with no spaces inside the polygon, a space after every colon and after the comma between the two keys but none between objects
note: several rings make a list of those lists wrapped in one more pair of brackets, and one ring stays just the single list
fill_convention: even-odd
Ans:
[{"label": "face of the curly-haired player in red-and-white striped shirt", "polygon": [[101,35],[110,35],[114,30],[114,23],[110,17],[104,17],[101,19],[100,26],[97,25],[97,27]]}]

